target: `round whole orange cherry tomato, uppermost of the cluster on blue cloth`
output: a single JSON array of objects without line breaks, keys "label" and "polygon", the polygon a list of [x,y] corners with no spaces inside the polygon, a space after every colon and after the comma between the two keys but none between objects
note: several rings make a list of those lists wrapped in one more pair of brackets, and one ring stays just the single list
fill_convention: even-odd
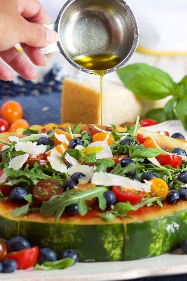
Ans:
[{"label": "round whole orange cherry tomato, uppermost of the cluster on blue cloth", "polygon": [[9,124],[22,118],[23,108],[17,101],[5,101],[1,106],[1,116],[7,120]]}]

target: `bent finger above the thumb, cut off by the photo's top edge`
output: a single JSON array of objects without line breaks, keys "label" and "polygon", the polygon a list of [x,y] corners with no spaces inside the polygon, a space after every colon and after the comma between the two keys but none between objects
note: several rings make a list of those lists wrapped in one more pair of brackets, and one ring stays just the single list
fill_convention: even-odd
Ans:
[{"label": "bent finger above the thumb, cut off by the photo's top edge", "polygon": [[38,0],[19,0],[18,9],[29,22],[50,24],[50,19]]}]

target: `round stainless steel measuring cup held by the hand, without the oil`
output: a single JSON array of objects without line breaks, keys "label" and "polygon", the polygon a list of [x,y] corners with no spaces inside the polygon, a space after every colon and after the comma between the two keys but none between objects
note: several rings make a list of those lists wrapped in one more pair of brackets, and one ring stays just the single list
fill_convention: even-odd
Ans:
[{"label": "round stainless steel measuring cup held by the hand, without the oil", "polygon": [[59,35],[56,43],[42,48],[42,54],[60,52],[71,65],[86,73],[93,70],[75,62],[76,57],[113,54],[119,63],[107,73],[123,67],[138,43],[138,26],[132,10],[123,0],[69,0],[53,24],[46,27]]}]

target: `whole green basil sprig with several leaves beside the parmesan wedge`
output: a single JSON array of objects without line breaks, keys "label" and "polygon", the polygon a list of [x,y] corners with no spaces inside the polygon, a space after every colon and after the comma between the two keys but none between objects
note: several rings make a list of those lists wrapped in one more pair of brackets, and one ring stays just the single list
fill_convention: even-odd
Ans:
[{"label": "whole green basil sprig with several leaves beside the parmesan wedge", "polygon": [[152,109],[146,117],[158,122],[180,119],[187,131],[187,75],[175,83],[168,73],[145,63],[128,65],[117,70],[117,74],[130,91],[144,99],[172,96],[164,108]]}]

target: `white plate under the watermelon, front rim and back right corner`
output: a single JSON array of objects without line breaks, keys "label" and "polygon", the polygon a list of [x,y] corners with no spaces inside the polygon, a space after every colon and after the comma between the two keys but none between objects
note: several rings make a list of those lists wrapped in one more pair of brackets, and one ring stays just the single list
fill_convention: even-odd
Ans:
[{"label": "white plate under the watermelon, front rim and back right corner", "polygon": [[[170,120],[143,129],[168,131],[170,136],[180,132],[187,139],[187,133],[179,120]],[[12,274],[0,274],[0,281],[111,281],[185,273],[187,273],[187,255],[183,254],[181,249],[175,249],[169,254],[149,259],[77,263],[64,270],[17,270]]]}]

